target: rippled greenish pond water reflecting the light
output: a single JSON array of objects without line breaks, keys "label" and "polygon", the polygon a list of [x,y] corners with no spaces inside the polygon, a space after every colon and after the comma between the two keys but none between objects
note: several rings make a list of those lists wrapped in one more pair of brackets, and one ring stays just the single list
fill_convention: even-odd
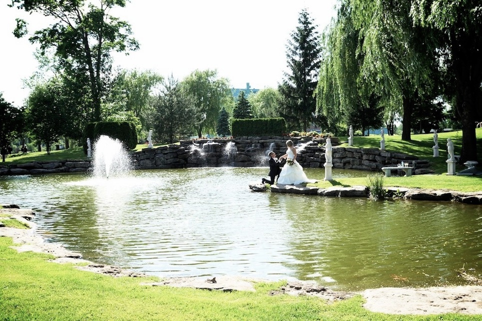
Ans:
[{"label": "rippled greenish pond water reflecting the light", "polygon": [[[257,193],[267,168],[0,178],[48,242],[159,277],[314,280],[340,290],[459,285],[482,274],[482,207]],[[324,170],[305,169],[322,180]],[[337,170],[340,176],[367,172]]]}]

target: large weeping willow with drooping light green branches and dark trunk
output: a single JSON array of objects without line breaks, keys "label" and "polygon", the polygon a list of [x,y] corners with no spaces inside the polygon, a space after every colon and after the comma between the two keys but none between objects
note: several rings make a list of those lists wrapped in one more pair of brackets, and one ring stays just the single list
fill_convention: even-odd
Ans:
[{"label": "large weeping willow with drooping light green branches and dark trunk", "polygon": [[410,0],[342,1],[326,35],[318,112],[337,110],[345,119],[361,111],[401,113],[402,139],[411,139],[416,98],[433,87],[436,54],[430,30],[414,26],[410,8]]}]

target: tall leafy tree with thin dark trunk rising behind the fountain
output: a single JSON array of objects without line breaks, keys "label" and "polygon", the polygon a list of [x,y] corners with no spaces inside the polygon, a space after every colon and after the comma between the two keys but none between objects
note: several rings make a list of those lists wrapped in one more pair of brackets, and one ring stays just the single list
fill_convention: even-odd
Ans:
[{"label": "tall leafy tree with thin dark trunk rising behind the fountain", "polygon": [[[137,41],[130,38],[130,25],[109,14],[124,0],[93,3],[79,1],[12,0],[10,6],[26,12],[38,12],[55,22],[34,32],[30,42],[40,44],[41,53],[55,50],[57,69],[74,74],[82,84],[88,84],[88,97],[93,120],[100,120],[101,99],[106,95],[111,72],[112,51],[136,50]],[[16,37],[27,34],[27,23],[17,19]],[[87,80],[87,81],[85,81]],[[78,86],[78,87],[82,87]]]}]

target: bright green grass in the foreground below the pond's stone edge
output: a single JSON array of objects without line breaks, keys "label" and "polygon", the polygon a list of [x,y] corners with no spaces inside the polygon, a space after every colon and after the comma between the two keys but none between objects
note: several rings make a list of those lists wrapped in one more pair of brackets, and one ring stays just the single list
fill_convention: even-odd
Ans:
[{"label": "bright green grass in the foreground below the pond's stone edge", "polygon": [[[474,320],[371,313],[363,298],[328,304],[315,297],[270,295],[281,286],[259,283],[256,292],[151,287],[156,278],[112,278],[54,264],[52,257],[9,248],[0,238],[0,320]],[[480,316],[482,318],[482,316]]]}]

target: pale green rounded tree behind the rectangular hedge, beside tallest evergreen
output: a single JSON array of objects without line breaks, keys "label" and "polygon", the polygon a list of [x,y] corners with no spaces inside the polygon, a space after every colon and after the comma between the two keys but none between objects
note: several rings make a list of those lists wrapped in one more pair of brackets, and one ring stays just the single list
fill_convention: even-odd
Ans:
[{"label": "pale green rounded tree behind the rectangular hedge, beside tallest evergreen", "polygon": [[254,118],[279,117],[279,105],[281,96],[277,89],[265,88],[247,97]]}]

